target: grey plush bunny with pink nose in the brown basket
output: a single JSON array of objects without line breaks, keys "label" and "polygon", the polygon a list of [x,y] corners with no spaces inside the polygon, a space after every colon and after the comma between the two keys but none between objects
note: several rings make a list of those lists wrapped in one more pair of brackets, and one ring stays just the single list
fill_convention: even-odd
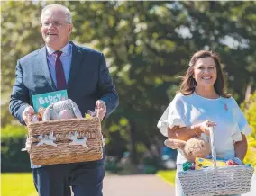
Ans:
[{"label": "grey plush bunny with pink nose in the brown basket", "polygon": [[72,100],[64,100],[50,104],[44,111],[42,121],[82,118],[78,105]]}]

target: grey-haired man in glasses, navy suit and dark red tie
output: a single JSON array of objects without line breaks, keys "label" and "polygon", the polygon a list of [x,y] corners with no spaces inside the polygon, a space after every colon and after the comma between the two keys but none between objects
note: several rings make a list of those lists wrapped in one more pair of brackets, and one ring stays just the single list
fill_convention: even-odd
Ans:
[{"label": "grey-haired man in glasses, navy suit and dark red tie", "polygon": [[[118,105],[118,95],[102,53],[78,47],[69,41],[72,19],[69,9],[50,4],[41,12],[41,34],[45,47],[17,62],[10,111],[23,125],[33,114],[32,95],[67,89],[69,99],[84,115],[96,111],[102,120]],[[32,165],[40,196],[101,196],[105,175],[104,158],[66,165]]]}]

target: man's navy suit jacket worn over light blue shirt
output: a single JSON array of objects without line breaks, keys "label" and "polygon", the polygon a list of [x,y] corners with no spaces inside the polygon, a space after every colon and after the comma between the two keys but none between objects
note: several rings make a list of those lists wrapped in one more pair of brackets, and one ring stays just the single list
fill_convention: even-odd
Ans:
[{"label": "man's navy suit jacket worn over light blue shirt", "polygon": [[[67,92],[69,99],[78,104],[82,115],[94,111],[96,100],[105,102],[108,117],[118,106],[115,90],[105,57],[102,53],[72,44],[72,60]],[[22,113],[32,104],[32,95],[58,91],[50,76],[46,47],[21,58],[16,66],[16,78],[10,100],[10,112],[23,123]],[[23,123],[24,124],[24,123]]]}]

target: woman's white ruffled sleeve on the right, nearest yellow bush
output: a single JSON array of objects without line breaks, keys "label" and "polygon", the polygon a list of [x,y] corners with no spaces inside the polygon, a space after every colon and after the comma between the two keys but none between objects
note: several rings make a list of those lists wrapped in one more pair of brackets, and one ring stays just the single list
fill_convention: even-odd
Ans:
[{"label": "woman's white ruffled sleeve on the right, nearest yellow bush", "polygon": [[234,102],[234,116],[235,116],[235,120],[236,120],[236,129],[234,129],[233,131],[233,140],[234,142],[236,141],[241,141],[242,140],[242,135],[248,136],[251,134],[251,128],[244,116],[244,114],[242,113],[241,109],[239,108],[237,102],[235,102],[235,100],[233,100]]}]

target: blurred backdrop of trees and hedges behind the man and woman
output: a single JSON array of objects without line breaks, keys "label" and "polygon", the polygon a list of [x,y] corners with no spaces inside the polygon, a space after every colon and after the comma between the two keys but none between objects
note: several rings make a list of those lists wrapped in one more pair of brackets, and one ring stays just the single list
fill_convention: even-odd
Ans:
[{"label": "blurred backdrop of trees and hedges behind the man and woman", "polygon": [[[5,1],[1,2],[1,172],[5,179],[10,179],[10,173],[31,171],[28,154],[21,152],[27,130],[10,115],[8,103],[16,61],[43,46],[41,9],[52,3],[63,4],[72,13],[70,40],[105,54],[120,97],[117,110],[103,122],[108,174],[175,169],[177,151],[163,146],[165,138],[156,125],[178,90],[189,58],[200,49],[211,49],[222,58],[228,91],[253,129],[245,161],[256,165],[256,94],[250,96],[256,89],[255,1]],[[7,183],[2,183],[3,189]]]}]

